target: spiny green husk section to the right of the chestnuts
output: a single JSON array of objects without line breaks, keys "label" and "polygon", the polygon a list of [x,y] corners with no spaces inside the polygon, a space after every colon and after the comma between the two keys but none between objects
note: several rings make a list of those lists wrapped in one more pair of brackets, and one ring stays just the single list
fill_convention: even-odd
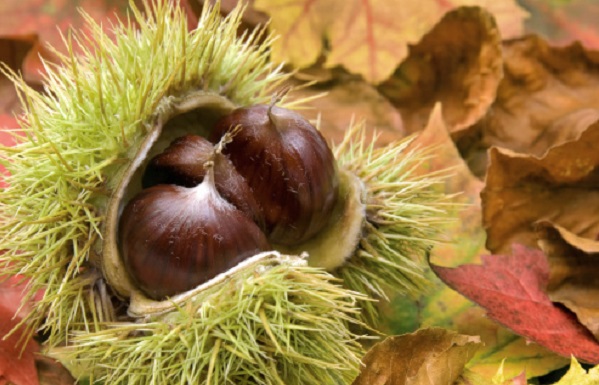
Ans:
[{"label": "spiny green husk section to the right of the chestnuts", "polygon": [[[434,149],[414,147],[413,140],[377,148],[376,135],[366,138],[364,125],[358,124],[335,148],[339,163],[363,183],[366,220],[357,250],[334,274],[371,298],[421,294],[428,285],[426,255],[452,221],[444,193],[451,170],[428,171]],[[376,326],[376,303],[361,305],[364,320]]]}]

